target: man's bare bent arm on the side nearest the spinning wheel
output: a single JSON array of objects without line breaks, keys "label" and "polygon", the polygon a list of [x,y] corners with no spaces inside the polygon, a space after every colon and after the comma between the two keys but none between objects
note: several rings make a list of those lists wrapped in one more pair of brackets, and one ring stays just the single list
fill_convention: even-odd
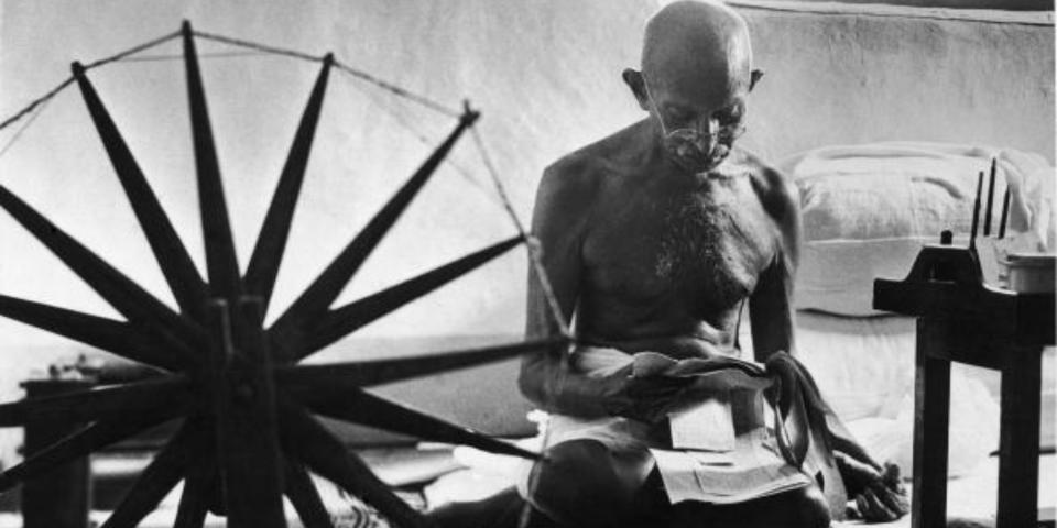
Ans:
[{"label": "man's bare bent arm on the side nearest the spinning wheel", "polygon": [[[565,324],[584,279],[582,246],[597,188],[584,163],[560,161],[544,172],[536,193],[532,231],[540,242],[540,260]],[[560,334],[544,288],[530,266],[527,339]],[[519,386],[532,403],[548,413],[579,417],[607,416],[617,405],[619,376],[592,377],[578,372],[567,346],[525,355]]]}]

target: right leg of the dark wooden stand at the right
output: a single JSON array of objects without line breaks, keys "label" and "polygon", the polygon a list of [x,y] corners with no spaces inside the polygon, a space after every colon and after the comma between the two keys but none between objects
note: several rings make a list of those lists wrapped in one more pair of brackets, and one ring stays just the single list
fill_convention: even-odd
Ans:
[{"label": "right leg of the dark wooden stand at the right", "polygon": [[998,528],[1034,527],[1038,516],[1040,348],[1011,346],[1002,370]]}]

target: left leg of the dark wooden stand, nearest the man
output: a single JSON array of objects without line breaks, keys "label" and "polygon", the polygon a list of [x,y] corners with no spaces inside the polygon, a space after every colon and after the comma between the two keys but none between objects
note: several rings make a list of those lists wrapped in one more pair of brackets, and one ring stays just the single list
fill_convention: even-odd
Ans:
[{"label": "left leg of the dark wooden stand, nearest the man", "polygon": [[914,394],[914,528],[947,522],[947,441],[950,418],[950,362],[936,359],[944,346],[942,326],[918,319]]}]

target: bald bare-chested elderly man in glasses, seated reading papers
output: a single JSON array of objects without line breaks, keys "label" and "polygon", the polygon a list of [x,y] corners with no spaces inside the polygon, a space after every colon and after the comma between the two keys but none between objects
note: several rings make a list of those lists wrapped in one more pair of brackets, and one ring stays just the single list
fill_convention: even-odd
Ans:
[{"label": "bald bare-chested elderly man in glasses, seated reading papers", "polygon": [[[548,460],[521,486],[528,516],[519,516],[508,492],[476,505],[477,521],[456,515],[459,508],[438,512],[442,525],[502,526],[520,517],[530,526],[815,528],[843,514],[835,512],[843,504],[824,497],[818,473],[782,458],[766,432],[761,392],[713,394],[693,377],[636,374],[658,356],[740,356],[745,305],[758,361],[794,350],[797,193],[734,147],[761,75],[744,20],[723,4],[676,2],[650,20],[642,70],[623,73],[649,116],[554,163],[536,197],[533,232],[577,345],[522,364],[522,392],[552,415]],[[530,280],[528,296],[528,337],[557,334],[538,282]],[[781,491],[756,497],[747,486],[760,482],[734,479],[722,493],[680,490],[690,499],[673,504],[673,469],[651,449],[673,448],[669,413],[709,399],[729,409],[735,459],[778,468]],[[851,453],[830,454],[858,470],[846,481],[863,514],[905,514],[897,475],[883,474],[847,438],[831,440]],[[750,498],[723,504],[734,494]]]}]

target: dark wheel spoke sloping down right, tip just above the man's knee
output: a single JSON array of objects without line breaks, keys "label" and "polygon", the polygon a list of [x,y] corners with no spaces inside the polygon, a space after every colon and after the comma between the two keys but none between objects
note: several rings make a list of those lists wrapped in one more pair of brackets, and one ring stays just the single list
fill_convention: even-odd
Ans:
[{"label": "dark wheel spoke sloping down right, tip just above the man's knee", "polygon": [[[339,403],[340,402],[340,403]],[[360,389],[347,391],[341,399],[312,406],[330,418],[411,435],[436,442],[461,443],[497,454],[537,460],[536,453],[495,440],[469,428],[434,418],[419,410],[388,402]]]}]

